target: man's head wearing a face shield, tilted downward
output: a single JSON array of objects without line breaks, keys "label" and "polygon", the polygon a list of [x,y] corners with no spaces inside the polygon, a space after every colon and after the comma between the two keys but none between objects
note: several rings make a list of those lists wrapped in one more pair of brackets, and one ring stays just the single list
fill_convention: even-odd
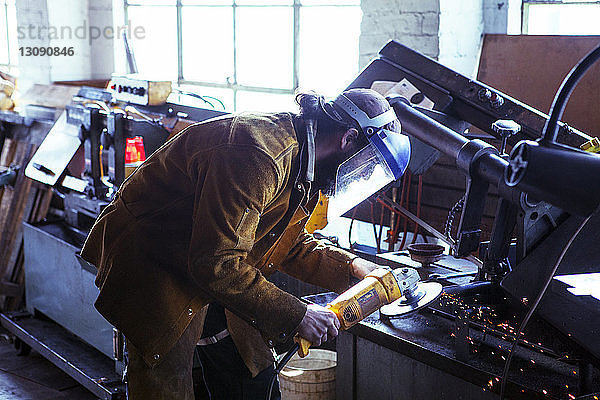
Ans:
[{"label": "man's head wearing a face shield, tilted downward", "polygon": [[379,93],[351,89],[329,102],[315,93],[296,99],[301,115],[316,121],[315,185],[333,196],[330,215],[341,215],[402,175],[410,145]]}]

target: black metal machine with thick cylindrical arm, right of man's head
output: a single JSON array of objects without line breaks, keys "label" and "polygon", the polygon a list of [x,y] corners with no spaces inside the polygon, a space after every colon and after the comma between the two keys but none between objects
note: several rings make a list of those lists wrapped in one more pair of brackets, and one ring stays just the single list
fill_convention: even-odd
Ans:
[{"label": "black metal machine with thick cylindrical arm, right of man's head", "polygon": [[[409,169],[421,173],[424,159],[429,159],[429,166],[431,159],[435,161],[442,153],[453,158],[466,177],[465,203],[453,246],[455,256],[464,257],[478,250],[485,195],[490,185],[496,186],[501,197],[478,280],[499,284],[515,303],[534,299],[582,216],[595,212],[600,200],[598,174],[589,175],[600,172],[600,156],[573,147],[590,137],[559,123],[562,144],[539,146],[531,141],[541,136],[547,115],[395,41],[380,51],[350,88],[370,88],[375,81],[403,79],[435,103],[434,111],[430,111],[414,106],[411,99],[388,98],[403,133],[411,138],[414,154]],[[492,128],[498,120],[512,120],[520,131],[499,135]],[[526,142],[530,165],[522,184],[507,184],[504,176],[509,157],[489,144],[490,139],[511,146],[530,141]],[[557,275],[600,273],[600,256],[595,251],[600,239],[599,222],[596,213],[575,238]],[[510,263],[509,249],[515,236],[516,260]],[[537,313],[581,346],[585,356],[598,366],[600,300],[575,295],[576,290],[568,289],[569,285],[553,279]]]}]

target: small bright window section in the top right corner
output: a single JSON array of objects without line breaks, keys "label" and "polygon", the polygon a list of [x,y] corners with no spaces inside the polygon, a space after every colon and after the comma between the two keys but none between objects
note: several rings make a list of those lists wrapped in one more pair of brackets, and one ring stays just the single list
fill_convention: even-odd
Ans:
[{"label": "small bright window section in the top right corner", "polygon": [[523,33],[598,35],[600,1],[523,0]]}]

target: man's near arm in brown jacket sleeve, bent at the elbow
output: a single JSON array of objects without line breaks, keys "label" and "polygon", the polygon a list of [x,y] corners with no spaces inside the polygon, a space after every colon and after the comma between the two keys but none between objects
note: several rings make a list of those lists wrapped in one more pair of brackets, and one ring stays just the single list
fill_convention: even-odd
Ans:
[{"label": "man's near arm in brown jacket sleeve, bent at the elbow", "polygon": [[188,253],[198,288],[249,321],[272,340],[285,340],[301,323],[306,305],[268,282],[245,259],[260,215],[279,190],[273,161],[251,146],[223,145],[199,157],[206,171],[196,187]]}]

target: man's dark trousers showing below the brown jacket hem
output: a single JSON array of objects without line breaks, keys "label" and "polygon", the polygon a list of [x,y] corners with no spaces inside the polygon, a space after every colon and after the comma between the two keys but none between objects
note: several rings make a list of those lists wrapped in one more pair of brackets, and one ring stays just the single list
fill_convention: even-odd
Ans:
[{"label": "man's dark trousers showing below the brown jacket hem", "polygon": [[[194,400],[192,365],[195,352],[202,364],[211,400],[265,399],[273,367],[252,378],[230,336],[215,344],[196,346],[201,331],[199,318],[194,318],[173,349],[154,368],[149,367],[127,341],[128,400]],[[278,382],[275,382],[271,398],[281,398]]]}]

